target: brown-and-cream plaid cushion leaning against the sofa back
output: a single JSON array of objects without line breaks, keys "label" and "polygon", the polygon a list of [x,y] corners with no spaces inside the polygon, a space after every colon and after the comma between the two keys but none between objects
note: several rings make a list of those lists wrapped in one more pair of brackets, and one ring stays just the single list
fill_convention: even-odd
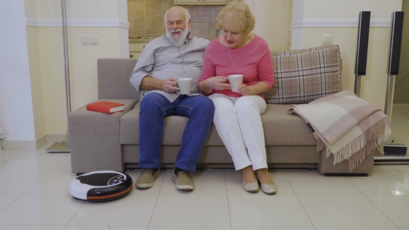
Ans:
[{"label": "brown-and-cream plaid cushion leaning against the sofa back", "polygon": [[269,104],[302,104],[341,90],[338,45],[271,52],[275,86],[263,93]]}]

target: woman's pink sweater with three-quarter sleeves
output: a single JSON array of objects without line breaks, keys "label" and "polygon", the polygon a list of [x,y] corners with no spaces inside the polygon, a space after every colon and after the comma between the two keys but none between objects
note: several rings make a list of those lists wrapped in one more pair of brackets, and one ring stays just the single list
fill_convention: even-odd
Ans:
[{"label": "woman's pink sweater with three-quarter sleeves", "polygon": [[[204,52],[202,75],[200,81],[214,76],[227,77],[233,74],[243,74],[243,83],[245,85],[254,85],[259,81],[265,82],[268,89],[274,85],[274,70],[270,57],[270,49],[266,40],[255,35],[252,42],[240,48],[231,48],[232,58],[229,50],[219,42],[220,37],[209,43]],[[240,59],[238,58],[240,57]],[[233,62],[236,62],[233,66]],[[228,81],[227,81],[228,83]],[[213,89],[211,94],[225,94],[229,97],[238,98],[241,94],[236,94],[230,89]],[[263,97],[262,94],[260,94]]]}]

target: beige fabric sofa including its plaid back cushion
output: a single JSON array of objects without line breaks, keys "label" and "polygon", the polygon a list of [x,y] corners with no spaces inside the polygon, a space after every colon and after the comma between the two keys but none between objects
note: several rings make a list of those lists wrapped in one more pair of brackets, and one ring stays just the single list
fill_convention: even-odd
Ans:
[{"label": "beige fabric sofa including its plaid back cushion", "polygon": [[[326,52],[332,55],[331,60]],[[317,141],[304,120],[287,113],[289,103],[305,103],[340,90],[339,53],[338,46],[272,52],[276,84],[264,95],[268,103],[287,104],[268,104],[261,116],[270,168],[317,168],[324,175],[365,176],[372,172],[373,152],[352,172],[347,161],[334,166],[333,155],[327,157],[324,151],[317,152]],[[98,60],[98,100],[123,103],[125,111],[103,114],[87,111],[83,106],[69,114],[72,172],[138,167],[139,93],[129,81],[136,62],[135,59]],[[322,78],[325,72],[329,76]],[[315,79],[316,76],[321,80]],[[173,167],[186,121],[187,118],[180,116],[165,118],[161,167]],[[233,167],[232,158],[212,125],[198,168]]]}]

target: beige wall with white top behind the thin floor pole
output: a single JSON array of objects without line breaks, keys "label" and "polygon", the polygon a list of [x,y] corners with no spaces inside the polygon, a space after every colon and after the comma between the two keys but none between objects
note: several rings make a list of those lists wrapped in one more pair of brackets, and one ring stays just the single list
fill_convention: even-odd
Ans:
[{"label": "beige wall with white top behind the thin floor pole", "polygon": [[[31,1],[31,0],[30,0]],[[71,109],[96,100],[96,60],[128,57],[126,0],[67,0]],[[38,47],[48,135],[67,132],[60,1],[37,0]],[[80,44],[81,35],[98,35],[98,46]],[[40,89],[40,88],[39,88]]]}]

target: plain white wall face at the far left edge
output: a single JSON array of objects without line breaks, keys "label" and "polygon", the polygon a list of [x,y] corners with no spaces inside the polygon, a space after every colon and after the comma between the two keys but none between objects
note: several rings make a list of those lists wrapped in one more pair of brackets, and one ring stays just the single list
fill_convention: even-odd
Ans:
[{"label": "plain white wall face at the far left edge", "polygon": [[[35,141],[24,1],[0,1],[0,124],[5,141]],[[3,145],[3,148],[5,145]]]}]

